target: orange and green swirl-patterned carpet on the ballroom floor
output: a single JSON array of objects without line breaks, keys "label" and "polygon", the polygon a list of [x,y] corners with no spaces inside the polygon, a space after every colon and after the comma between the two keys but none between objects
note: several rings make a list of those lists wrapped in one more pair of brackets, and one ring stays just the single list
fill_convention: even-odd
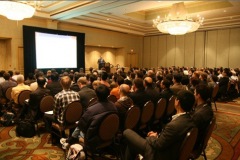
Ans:
[{"label": "orange and green swirl-patterned carpet on the ballroom floor", "polygon": [[[221,108],[231,107],[217,103],[217,125],[206,149],[209,160],[240,160],[240,112],[227,113]],[[240,105],[237,105],[240,109]],[[16,137],[15,126],[0,127],[0,159],[63,160],[65,153],[59,146],[48,144],[48,133],[33,138]],[[204,159],[200,157],[199,160]]]}]

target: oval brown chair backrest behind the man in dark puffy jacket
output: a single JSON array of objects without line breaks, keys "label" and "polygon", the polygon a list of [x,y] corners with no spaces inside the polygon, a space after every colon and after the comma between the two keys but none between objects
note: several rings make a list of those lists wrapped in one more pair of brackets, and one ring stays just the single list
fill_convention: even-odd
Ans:
[{"label": "oval brown chair backrest behind the man in dark puffy jacket", "polygon": [[99,137],[102,141],[111,140],[119,128],[119,117],[117,114],[107,115],[100,124]]}]

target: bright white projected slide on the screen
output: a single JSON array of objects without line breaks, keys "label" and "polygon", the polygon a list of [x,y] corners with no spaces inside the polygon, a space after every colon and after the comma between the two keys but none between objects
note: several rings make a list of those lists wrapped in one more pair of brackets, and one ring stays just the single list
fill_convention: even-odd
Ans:
[{"label": "bright white projected slide on the screen", "polygon": [[77,37],[35,32],[36,66],[77,68]]}]

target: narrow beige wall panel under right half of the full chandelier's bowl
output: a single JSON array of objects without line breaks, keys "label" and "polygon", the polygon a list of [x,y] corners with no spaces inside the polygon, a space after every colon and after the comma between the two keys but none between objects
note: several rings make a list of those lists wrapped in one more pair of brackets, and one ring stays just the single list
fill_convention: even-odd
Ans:
[{"label": "narrow beige wall panel under right half of the full chandelier's bowl", "polygon": [[185,63],[184,66],[194,66],[195,33],[185,34]]}]

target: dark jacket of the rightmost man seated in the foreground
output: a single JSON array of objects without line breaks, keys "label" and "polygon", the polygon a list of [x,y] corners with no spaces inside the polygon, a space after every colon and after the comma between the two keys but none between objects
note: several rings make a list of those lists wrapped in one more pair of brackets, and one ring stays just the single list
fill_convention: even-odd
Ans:
[{"label": "dark jacket of the rightmost man seated in the foreground", "polygon": [[199,147],[200,142],[203,138],[203,134],[206,131],[210,121],[213,118],[213,110],[212,107],[206,103],[200,104],[195,108],[195,111],[192,114],[192,119],[194,124],[198,127],[198,138],[195,143],[195,147]]}]

